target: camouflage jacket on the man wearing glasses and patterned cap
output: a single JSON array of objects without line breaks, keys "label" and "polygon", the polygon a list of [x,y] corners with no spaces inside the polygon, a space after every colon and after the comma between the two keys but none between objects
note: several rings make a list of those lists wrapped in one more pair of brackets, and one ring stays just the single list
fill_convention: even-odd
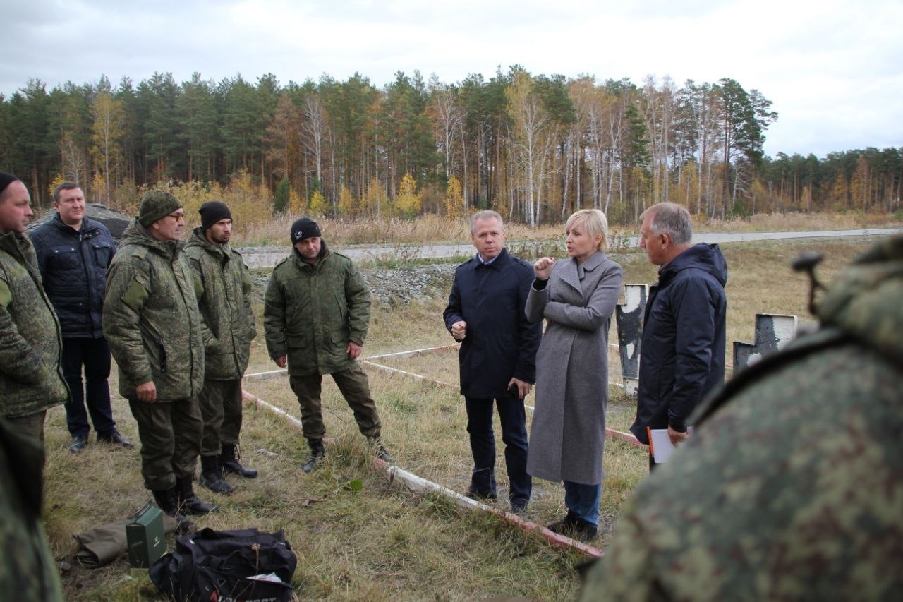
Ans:
[{"label": "camouflage jacket on the man wearing glasses and patterned cap", "polygon": [[200,312],[182,246],[155,240],[135,220],[107,272],[104,335],[128,400],[149,381],[161,401],[188,399],[203,386]]}]

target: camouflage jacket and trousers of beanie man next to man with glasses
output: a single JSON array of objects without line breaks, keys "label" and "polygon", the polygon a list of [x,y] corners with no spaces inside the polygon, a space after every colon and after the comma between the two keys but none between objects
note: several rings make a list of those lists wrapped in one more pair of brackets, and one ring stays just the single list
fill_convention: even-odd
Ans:
[{"label": "camouflage jacket and trousers of beanie man next to man with glasses", "polygon": [[201,456],[219,454],[220,444],[235,445],[241,430],[241,377],[251,340],[257,334],[251,311],[251,277],[237,250],[211,244],[196,228],[185,248],[191,263],[202,317],[204,418]]}]

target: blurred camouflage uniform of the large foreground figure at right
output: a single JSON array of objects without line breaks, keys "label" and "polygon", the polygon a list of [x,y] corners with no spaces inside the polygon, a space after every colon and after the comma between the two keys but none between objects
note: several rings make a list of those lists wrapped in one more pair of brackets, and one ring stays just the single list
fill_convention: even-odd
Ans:
[{"label": "blurred camouflage uniform of the large foreground figure at right", "polygon": [[641,484],[583,599],[896,599],[903,236],[842,271],[822,328],[731,380]]}]

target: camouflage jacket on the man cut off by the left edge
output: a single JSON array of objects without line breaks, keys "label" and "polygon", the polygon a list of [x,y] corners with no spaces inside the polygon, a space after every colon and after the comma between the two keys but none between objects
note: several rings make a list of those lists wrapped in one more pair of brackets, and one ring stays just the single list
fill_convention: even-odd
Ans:
[{"label": "camouflage jacket on the man cut off by the left edge", "polygon": [[0,236],[0,416],[19,418],[65,403],[60,320],[41,284],[28,237]]}]

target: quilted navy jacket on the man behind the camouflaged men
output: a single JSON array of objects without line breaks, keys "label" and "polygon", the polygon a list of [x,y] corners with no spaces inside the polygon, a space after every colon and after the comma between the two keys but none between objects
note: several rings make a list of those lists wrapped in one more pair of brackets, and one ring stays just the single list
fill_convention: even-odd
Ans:
[{"label": "quilted navy jacket on the man behind the camouflaged men", "polygon": [[67,226],[60,214],[29,234],[38,255],[44,290],[60,316],[64,337],[100,338],[107,268],[116,241],[107,226],[85,216],[81,230]]}]

